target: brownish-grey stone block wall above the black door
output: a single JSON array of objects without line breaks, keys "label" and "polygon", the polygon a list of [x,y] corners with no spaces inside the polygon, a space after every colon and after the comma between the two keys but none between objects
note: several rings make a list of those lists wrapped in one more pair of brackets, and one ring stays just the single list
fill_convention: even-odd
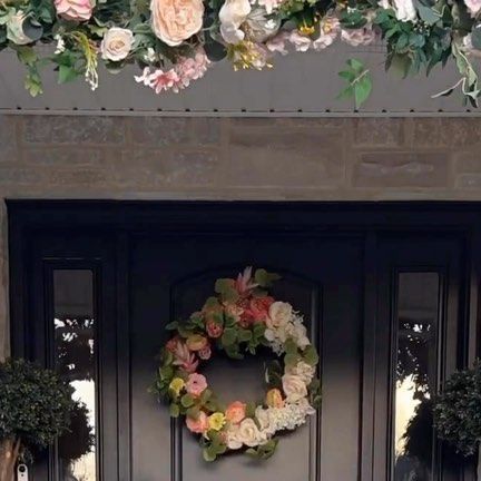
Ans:
[{"label": "brownish-grey stone block wall above the black door", "polygon": [[0,116],[0,197],[481,200],[480,146],[475,118]]}]

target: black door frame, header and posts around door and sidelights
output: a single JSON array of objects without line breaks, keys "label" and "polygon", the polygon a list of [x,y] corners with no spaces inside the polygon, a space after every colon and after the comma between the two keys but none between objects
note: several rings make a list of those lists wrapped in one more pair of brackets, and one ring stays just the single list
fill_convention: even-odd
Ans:
[{"label": "black door frame, header and posts around door and sidelights", "polygon": [[[109,238],[116,254],[116,312],[128,326],[128,244],[129,233],[158,228],[166,233],[247,233],[282,232],[317,235],[356,235],[364,245],[364,338],[361,366],[362,395],[360,420],[361,481],[374,480],[374,396],[376,390],[376,346],[373,344],[379,289],[376,248],[382,236],[449,235],[462,245],[462,278],[458,367],[481,355],[481,203],[449,202],[129,202],[129,200],[7,200],[9,216],[10,325],[11,352],[29,356],[29,274],[28,255],[41,232],[72,235],[95,229]],[[126,330],[128,333],[128,330]],[[128,345],[128,336],[118,340],[118,349]],[[120,373],[128,361],[118,360]],[[120,376],[119,376],[120,379]],[[121,392],[128,385],[117,386]],[[119,391],[119,392],[120,392]],[[127,410],[119,406],[119,410]],[[392,413],[389,413],[392,415]],[[125,433],[124,433],[125,434]],[[119,439],[119,479],[129,480],[128,443]],[[377,471],[379,472],[379,471]],[[470,473],[467,471],[467,481]]]}]

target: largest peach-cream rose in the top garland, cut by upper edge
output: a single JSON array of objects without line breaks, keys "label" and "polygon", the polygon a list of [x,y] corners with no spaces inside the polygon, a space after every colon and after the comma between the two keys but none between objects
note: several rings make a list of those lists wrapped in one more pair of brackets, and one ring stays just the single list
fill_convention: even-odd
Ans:
[{"label": "largest peach-cream rose in the top garland, cut by upper edge", "polygon": [[203,0],[151,0],[154,33],[170,47],[179,46],[203,26]]}]

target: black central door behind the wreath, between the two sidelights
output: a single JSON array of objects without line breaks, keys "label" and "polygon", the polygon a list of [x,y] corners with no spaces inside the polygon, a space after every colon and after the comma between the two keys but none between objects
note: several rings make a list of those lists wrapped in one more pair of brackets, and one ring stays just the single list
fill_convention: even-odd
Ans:
[{"label": "black central door behind the wreath, between the two sidelights", "polygon": [[[275,462],[262,469],[238,454],[206,464],[190,433],[170,422],[167,410],[145,395],[156,369],[154,357],[166,340],[165,324],[198,310],[213,294],[217,277],[236,275],[246,265],[283,276],[274,295],[304,313],[312,338],[321,341],[321,419],[284,436]],[[134,480],[356,480],[361,265],[356,239],[137,236],[130,258]],[[257,357],[246,362],[218,359],[206,373],[226,401],[255,400],[265,392],[263,363]]]}]

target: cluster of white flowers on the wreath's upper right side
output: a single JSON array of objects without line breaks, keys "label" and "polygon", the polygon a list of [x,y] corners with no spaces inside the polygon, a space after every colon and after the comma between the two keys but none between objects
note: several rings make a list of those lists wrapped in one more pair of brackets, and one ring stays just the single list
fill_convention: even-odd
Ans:
[{"label": "cluster of white flowers on the wreath's upper right side", "polygon": [[293,340],[301,350],[311,344],[303,316],[288,303],[275,302],[269,308],[266,325],[264,336],[278,355],[284,353],[284,343],[288,338]]}]

